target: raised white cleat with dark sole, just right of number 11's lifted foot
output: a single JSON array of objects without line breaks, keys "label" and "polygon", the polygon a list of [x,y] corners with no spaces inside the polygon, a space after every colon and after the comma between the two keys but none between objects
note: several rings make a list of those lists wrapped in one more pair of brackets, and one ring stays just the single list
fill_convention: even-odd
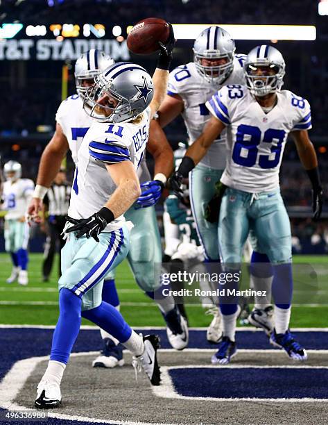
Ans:
[{"label": "raised white cleat with dark sole, just right of number 11's lifted foot", "polygon": [[166,322],[166,335],[171,346],[176,350],[183,350],[189,342],[189,331],[187,320],[178,312],[175,307],[164,315]]}]

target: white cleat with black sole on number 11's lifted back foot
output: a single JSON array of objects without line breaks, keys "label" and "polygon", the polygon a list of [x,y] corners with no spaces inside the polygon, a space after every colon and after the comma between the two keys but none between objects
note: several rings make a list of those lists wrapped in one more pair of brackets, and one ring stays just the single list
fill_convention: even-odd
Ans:
[{"label": "white cleat with black sole on number 11's lifted back foot", "polygon": [[152,385],[159,385],[161,381],[161,371],[157,363],[157,349],[159,348],[159,338],[157,335],[140,336],[144,339],[144,352],[141,356],[133,356],[132,366],[135,368],[137,380],[138,372],[144,369]]}]

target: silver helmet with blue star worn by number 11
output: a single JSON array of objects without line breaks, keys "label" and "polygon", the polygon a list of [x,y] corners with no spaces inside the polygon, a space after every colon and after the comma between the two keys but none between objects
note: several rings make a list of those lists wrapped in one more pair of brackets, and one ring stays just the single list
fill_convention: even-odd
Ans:
[{"label": "silver helmet with blue star worn by number 11", "polygon": [[128,122],[150,104],[153,81],[143,67],[119,62],[101,72],[85,94],[83,108],[100,122]]}]

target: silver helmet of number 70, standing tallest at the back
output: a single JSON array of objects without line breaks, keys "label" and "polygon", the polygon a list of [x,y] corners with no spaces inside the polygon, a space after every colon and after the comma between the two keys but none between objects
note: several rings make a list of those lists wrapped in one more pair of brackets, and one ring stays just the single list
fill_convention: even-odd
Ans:
[{"label": "silver helmet of number 70, standing tallest at the back", "polygon": [[[206,81],[221,84],[231,74],[234,67],[234,40],[220,26],[206,28],[193,44],[193,62],[198,74]],[[202,59],[227,59],[227,63],[216,66],[202,65]]]}]

